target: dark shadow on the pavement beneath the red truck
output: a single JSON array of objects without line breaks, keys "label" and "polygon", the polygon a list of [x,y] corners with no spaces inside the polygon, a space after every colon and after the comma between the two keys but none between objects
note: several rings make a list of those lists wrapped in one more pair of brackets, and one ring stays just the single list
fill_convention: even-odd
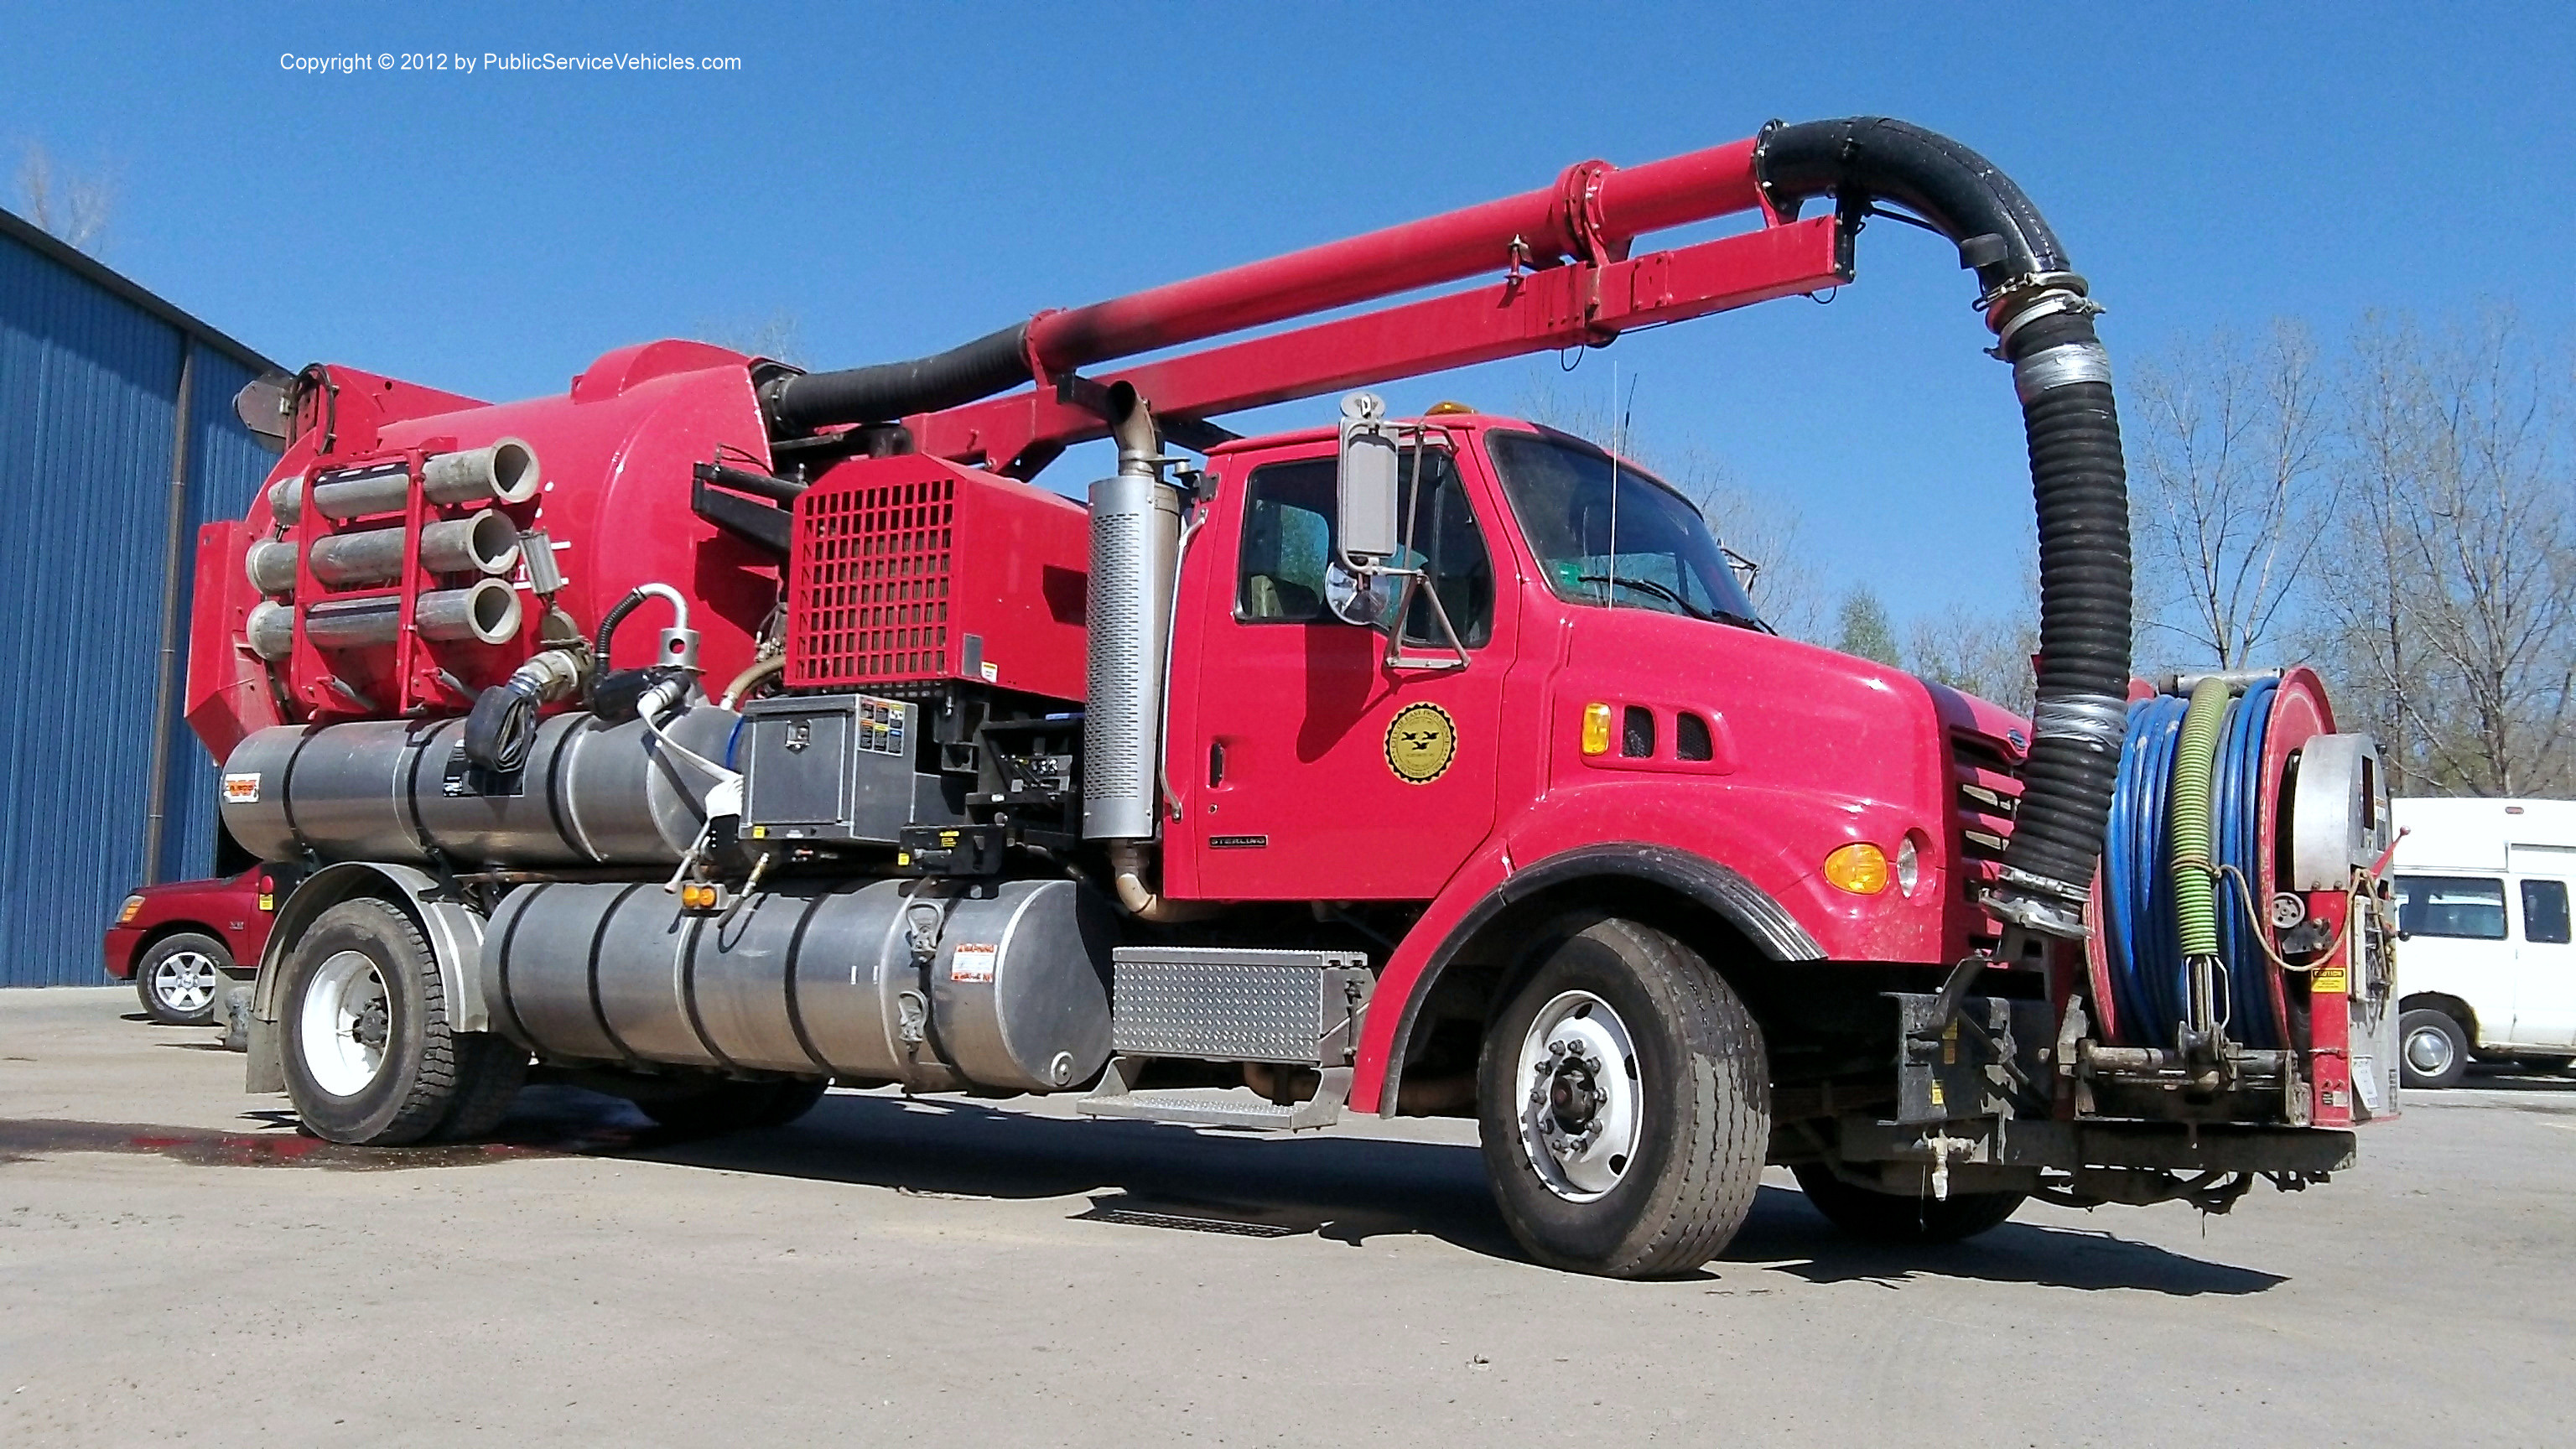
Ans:
[{"label": "dark shadow on the pavement beneath the red truck", "polygon": [[[631,1137],[621,1142],[621,1132]],[[1074,1220],[1110,1227],[1314,1235],[1352,1248],[1419,1232],[1489,1258],[1528,1261],[1484,1186],[1481,1152],[1453,1142],[1193,1132],[876,1093],[832,1093],[793,1127],[670,1140],[623,1101],[551,1085],[520,1093],[500,1140],[914,1196],[1087,1196],[1090,1209]],[[1767,1274],[1811,1284],[1978,1279],[2174,1297],[2254,1294],[2285,1281],[2107,1232],[2032,1222],[2007,1222],[1973,1243],[1860,1243],[1826,1225],[1806,1194],[1772,1186],[1759,1189],[1744,1230],[1698,1279],[1744,1284]]]}]

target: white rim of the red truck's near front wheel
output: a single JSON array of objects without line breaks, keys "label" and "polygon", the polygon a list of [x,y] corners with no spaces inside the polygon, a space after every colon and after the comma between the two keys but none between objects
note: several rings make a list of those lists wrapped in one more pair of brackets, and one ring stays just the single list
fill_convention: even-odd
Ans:
[{"label": "white rim of the red truck's near front wheel", "polygon": [[1548,1191],[1595,1201],[1636,1160],[1643,1093],[1636,1039],[1610,1003],[1569,990],[1520,1039],[1520,1147]]}]

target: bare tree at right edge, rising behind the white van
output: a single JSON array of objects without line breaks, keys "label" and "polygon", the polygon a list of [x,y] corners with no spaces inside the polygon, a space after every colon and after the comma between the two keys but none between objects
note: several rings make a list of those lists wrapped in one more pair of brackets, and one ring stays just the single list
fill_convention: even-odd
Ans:
[{"label": "bare tree at right edge, rising behind the white van", "polygon": [[2509,315],[2354,340],[2352,505],[2316,570],[2316,632],[2360,686],[2401,789],[2576,784],[2576,480],[2568,376]]}]

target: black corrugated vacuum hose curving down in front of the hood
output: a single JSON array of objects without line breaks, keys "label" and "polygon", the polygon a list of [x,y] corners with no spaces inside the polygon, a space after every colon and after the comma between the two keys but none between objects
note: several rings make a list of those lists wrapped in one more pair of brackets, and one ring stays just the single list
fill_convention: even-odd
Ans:
[{"label": "black corrugated vacuum hose curving down in front of the hood", "polygon": [[1775,126],[1754,170],[1788,214],[1834,196],[1844,217],[1893,201],[1958,245],[2012,364],[2040,516],[2040,704],[2022,802],[1991,905],[2081,936],[2128,714],[2128,469],[2097,307],[2022,188],[1968,147],[1883,116]]}]

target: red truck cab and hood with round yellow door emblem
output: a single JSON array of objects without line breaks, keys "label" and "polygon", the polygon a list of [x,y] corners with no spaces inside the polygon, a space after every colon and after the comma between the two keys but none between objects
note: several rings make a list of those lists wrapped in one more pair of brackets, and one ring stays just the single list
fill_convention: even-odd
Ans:
[{"label": "red truck cab and hood with round yellow door emblem", "polygon": [[1172,637],[1175,897],[1432,900],[1479,861],[1625,841],[1741,874],[1819,957],[1929,964],[1994,933],[1960,890],[1950,735],[2009,758],[2020,719],[1777,637],[1698,505],[1589,441],[1455,407],[1399,428],[1401,601],[1352,601],[1332,428],[1208,456]]}]

